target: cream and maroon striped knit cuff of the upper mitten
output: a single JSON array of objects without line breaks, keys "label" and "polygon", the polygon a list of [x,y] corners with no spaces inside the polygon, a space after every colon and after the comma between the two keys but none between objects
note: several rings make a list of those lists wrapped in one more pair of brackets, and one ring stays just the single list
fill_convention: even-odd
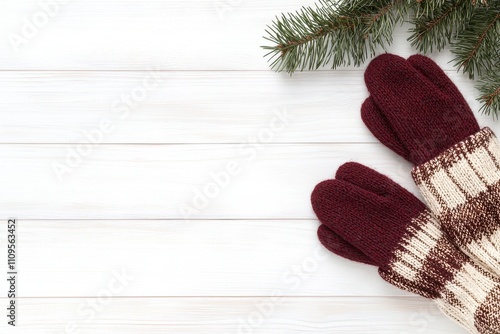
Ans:
[{"label": "cream and maroon striped knit cuff of the upper mitten", "polygon": [[500,275],[500,143],[493,132],[482,129],[412,176],[453,242]]}]

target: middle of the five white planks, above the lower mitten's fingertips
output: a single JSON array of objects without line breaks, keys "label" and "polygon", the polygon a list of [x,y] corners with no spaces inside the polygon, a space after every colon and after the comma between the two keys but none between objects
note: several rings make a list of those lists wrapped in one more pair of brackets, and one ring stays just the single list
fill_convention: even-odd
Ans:
[{"label": "middle of the five white planks, above the lower mitten's fingertips", "polygon": [[359,161],[415,191],[381,144],[0,146],[2,217],[312,219],[314,186]]}]

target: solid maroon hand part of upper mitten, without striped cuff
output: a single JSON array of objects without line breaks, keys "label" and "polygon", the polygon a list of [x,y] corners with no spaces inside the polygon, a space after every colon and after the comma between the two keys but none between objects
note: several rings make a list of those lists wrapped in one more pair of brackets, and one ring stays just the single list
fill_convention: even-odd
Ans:
[{"label": "solid maroon hand part of upper mitten, without striped cuff", "polygon": [[479,131],[460,91],[427,57],[378,56],[365,82],[371,94],[362,107],[366,126],[384,144],[394,137],[406,153],[395,151],[415,165]]}]

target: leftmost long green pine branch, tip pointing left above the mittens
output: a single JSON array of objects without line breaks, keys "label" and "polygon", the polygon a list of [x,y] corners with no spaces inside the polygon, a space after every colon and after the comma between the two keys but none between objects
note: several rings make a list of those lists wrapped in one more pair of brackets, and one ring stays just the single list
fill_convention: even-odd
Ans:
[{"label": "leftmost long green pine branch, tip pointing left above the mittens", "polygon": [[359,66],[377,47],[392,42],[392,32],[406,13],[406,0],[319,0],[316,8],[304,7],[296,13],[276,18],[266,33],[273,46],[271,67],[292,73],[317,69],[328,63],[332,68]]}]

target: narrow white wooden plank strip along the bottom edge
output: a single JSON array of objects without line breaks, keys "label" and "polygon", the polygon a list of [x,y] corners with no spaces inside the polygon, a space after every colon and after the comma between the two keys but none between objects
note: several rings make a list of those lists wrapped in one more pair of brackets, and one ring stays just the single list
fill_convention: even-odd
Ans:
[{"label": "narrow white wooden plank strip along the bottom edge", "polygon": [[[466,333],[418,297],[37,298],[19,303],[15,333]],[[0,328],[6,327],[2,321]]]}]

